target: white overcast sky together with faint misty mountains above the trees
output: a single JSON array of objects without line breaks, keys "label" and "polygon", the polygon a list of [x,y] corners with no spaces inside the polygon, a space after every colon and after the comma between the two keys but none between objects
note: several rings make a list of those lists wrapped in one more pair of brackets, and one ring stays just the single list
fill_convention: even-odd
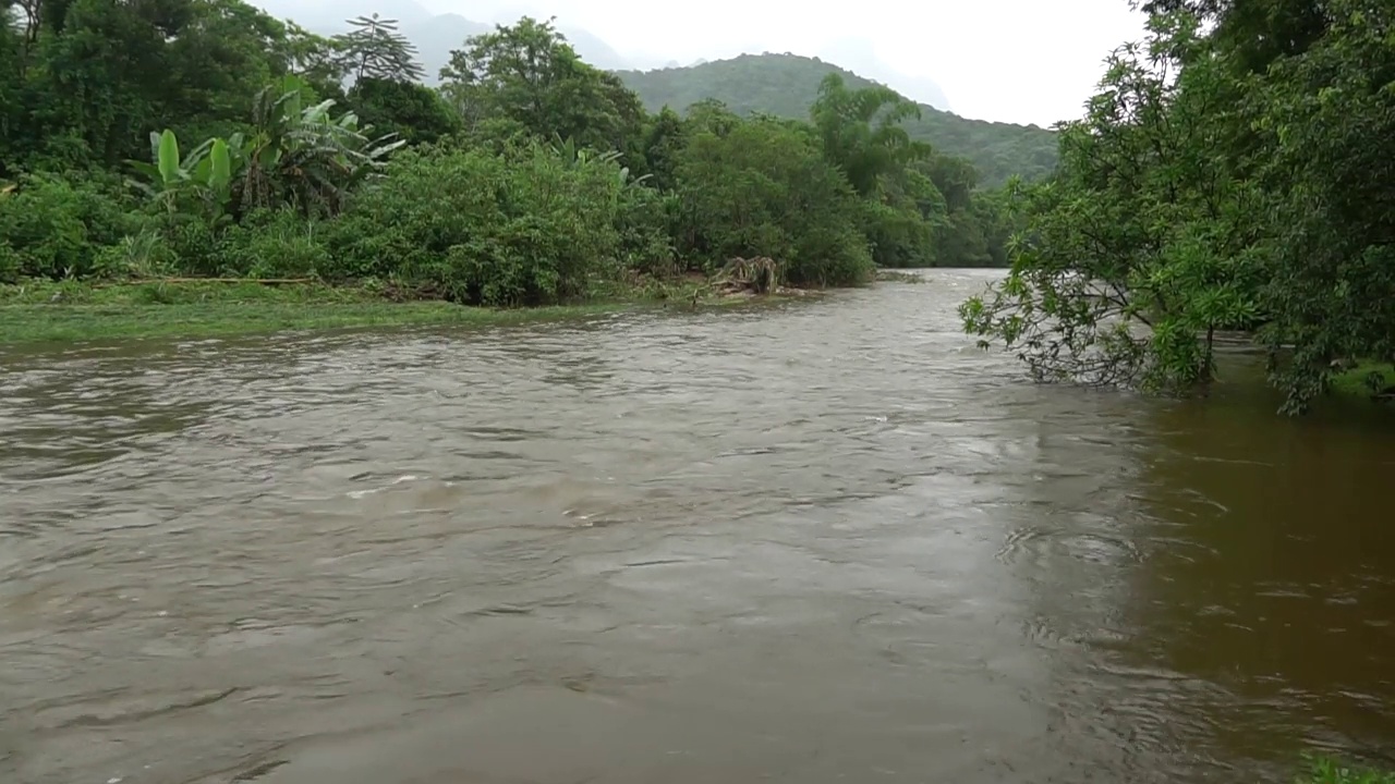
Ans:
[{"label": "white overcast sky together with faint misty mountains above the trees", "polygon": [[605,70],[685,67],[788,52],[841,66],[963,117],[1049,127],[1078,117],[1103,59],[1143,36],[1127,0],[255,0],[319,33],[374,13],[400,21],[428,80],[466,38],[522,15],[557,17],[578,53]]}]

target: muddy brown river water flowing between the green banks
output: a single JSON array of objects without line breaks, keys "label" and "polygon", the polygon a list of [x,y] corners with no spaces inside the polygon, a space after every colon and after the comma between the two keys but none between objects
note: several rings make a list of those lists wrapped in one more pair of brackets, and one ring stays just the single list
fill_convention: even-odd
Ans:
[{"label": "muddy brown river water flowing between the green banks", "polygon": [[990,273],[0,349],[0,781],[1288,781],[1395,749],[1395,427],[1034,386]]}]

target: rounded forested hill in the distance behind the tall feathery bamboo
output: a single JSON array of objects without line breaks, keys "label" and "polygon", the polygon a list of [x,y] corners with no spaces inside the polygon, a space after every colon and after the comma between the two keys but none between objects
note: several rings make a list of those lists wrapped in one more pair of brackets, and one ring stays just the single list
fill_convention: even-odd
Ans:
[{"label": "rounded forested hill in the distance behind the tall feathery bamboo", "polygon": [[[716,98],[742,114],[760,112],[808,119],[819,82],[830,71],[843,74],[850,86],[873,84],[831,63],[798,54],[742,54],[686,68],[619,71],[619,75],[650,112],[665,105],[682,112],[699,100]],[[928,105],[921,105],[921,120],[907,123],[910,134],[942,153],[972,160],[983,186],[1002,184],[1013,174],[1041,177],[1056,166],[1053,131],[970,120]]]}]

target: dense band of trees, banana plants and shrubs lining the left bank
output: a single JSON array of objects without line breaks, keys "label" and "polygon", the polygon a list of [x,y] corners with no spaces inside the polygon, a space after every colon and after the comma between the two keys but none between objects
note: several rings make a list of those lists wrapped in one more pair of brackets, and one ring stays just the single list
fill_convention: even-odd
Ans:
[{"label": "dense band of trees, banana plants and shrubs lining the left bank", "polygon": [[241,0],[0,0],[0,283],[385,282],[465,304],[773,258],[783,282],[1002,262],[921,112],[827,78],[804,119],[650,114],[551,22],[462,40],[438,88],[393,20],[322,38]]}]

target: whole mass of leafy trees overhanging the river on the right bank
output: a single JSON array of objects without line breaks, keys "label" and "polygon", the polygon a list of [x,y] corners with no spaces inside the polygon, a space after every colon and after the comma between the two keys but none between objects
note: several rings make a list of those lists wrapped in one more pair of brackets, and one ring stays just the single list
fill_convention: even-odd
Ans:
[{"label": "whole mass of leafy trees overhanging the river on the right bank", "polygon": [[965,324],[1041,379],[1172,392],[1208,384],[1216,335],[1243,331],[1302,412],[1395,359],[1395,6],[1147,10],[1057,172],[1016,188],[1013,271]]}]

